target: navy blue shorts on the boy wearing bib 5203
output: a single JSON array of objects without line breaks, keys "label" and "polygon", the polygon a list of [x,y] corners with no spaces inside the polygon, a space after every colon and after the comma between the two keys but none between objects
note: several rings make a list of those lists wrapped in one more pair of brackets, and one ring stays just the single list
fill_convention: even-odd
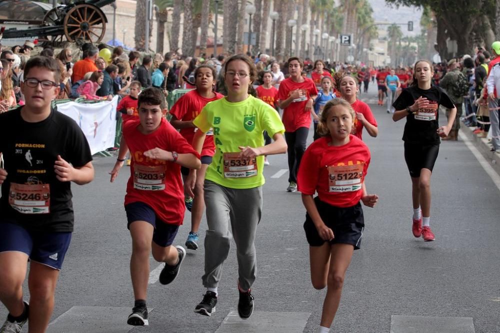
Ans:
[{"label": "navy blue shorts on the boy wearing bib 5203", "polygon": [[153,242],[156,245],[161,247],[172,245],[179,226],[160,220],[151,207],[140,201],[125,205],[125,212],[128,229],[130,229],[132,222],[145,221],[154,227]]}]

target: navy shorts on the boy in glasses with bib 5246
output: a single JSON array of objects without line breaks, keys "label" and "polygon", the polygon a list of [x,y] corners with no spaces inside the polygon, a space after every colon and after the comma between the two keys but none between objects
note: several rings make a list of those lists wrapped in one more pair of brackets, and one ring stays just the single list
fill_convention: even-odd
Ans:
[{"label": "navy shorts on the boy in glasses with bib 5246", "polygon": [[31,261],[55,270],[62,268],[70,241],[70,232],[29,231],[13,223],[0,222],[0,253],[22,252]]}]

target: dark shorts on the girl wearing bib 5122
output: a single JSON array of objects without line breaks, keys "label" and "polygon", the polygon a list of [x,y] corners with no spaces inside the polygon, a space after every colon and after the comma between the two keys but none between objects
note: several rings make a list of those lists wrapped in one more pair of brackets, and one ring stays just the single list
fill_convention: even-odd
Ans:
[{"label": "dark shorts on the girl wearing bib 5122", "polygon": [[[317,211],[324,224],[333,231],[333,238],[329,243],[333,244],[351,244],[354,250],[361,246],[361,237],[364,231],[364,217],[361,203],[358,202],[352,207],[340,208],[329,205],[314,198]],[[304,222],[305,237],[310,246],[321,246],[324,241],[312,222],[309,214],[305,214]]]}]

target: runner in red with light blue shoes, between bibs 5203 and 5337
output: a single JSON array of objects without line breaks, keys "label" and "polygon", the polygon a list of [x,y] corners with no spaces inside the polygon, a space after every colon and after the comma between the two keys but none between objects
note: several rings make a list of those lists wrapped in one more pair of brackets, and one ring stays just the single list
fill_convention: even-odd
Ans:
[{"label": "runner in red with light blue shoes, between bibs 5203 and 5337", "polygon": [[[208,103],[224,97],[218,92],[213,92],[215,86],[215,68],[209,65],[199,65],[194,70],[194,90],[189,91],[179,98],[173,104],[170,114],[172,119],[170,123],[173,127],[180,130],[182,135],[189,144],[192,144],[192,138],[197,128],[192,121],[201,112],[201,109]],[[203,183],[208,165],[212,162],[212,157],[215,154],[215,143],[213,142],[213,134],[207,133],[203,148],[201,150],[201,168],[196,171],[196,181],[193,181],[192,176],[189,177],[188,168],[180,168],[182,180],[184,181],[184,204],[188,211],[191,212],[191,231],[185,242],[186,248],[189,250],[198,249],[198,229],[203,217],[205,209]]]}]

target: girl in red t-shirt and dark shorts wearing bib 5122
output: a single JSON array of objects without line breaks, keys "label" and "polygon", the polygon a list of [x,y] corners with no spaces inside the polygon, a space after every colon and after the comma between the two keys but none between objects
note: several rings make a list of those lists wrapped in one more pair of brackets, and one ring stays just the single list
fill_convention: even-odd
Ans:
[{"label": "girl in red t-shirt and dark shorts wearing bib 5122", "polygon": [[[368,207],[378,201],[377,195],[366,194],[364,177],[370,152],[350,134],[354,115],[342,98],[326,103],[318,125],[322,137],[305,151],[297,176],[307,210],[304,230],[312,286],[327,287],[318,333],[327,333],[333,322],[345,272],[353,251],[360,247],[364,230],[361,201]],[[315,192],[318,195],[313,198]]]}]

